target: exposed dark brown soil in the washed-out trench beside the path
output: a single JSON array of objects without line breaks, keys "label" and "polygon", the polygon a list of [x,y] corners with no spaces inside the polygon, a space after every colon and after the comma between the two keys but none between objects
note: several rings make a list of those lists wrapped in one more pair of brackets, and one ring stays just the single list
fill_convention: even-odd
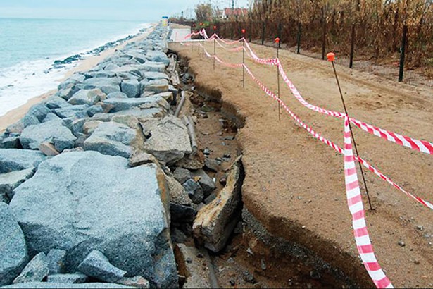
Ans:
[{"label": "exposed dark brown soil in the washed-out trench beside the path", "polygon": [[[180,63],[187,70],[188,60],[184,58]],[[194,71],[189,69],[189,73]],[[199,143],[210,153],[208,158],[241,154],[237,132],[244,127],[246,118],[236,106],[225,102],[215,87],[201,82],[195,82],[193,87],[192,111],[197,120]],[[218,185],[225,179],[224,166],[223,163],[222,170],[213,175],[217,182],[220,180]],[[247,208],[229,244],[222,252],[211,254],[211,258],[222,287],[249,288],[254,284],[258,288],[322,288],[354,284],[314,252],[275,238]]]}]

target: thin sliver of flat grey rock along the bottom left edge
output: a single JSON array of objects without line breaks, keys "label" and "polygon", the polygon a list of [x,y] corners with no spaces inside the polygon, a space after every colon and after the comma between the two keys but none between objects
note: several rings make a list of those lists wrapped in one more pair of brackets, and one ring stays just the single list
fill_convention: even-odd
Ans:
[{"label": "thin sliver of flat grey rock along the bottom left edge", "polygon": [[117,289],[117,288],[130,288],[135,289],[131,286],[113,284],[113,283],[82,283],[82,284],[71,284],[71,283],[48,283],[48,282],[31,282],[4,286],[2,288],[18,288],[18,289]]}]

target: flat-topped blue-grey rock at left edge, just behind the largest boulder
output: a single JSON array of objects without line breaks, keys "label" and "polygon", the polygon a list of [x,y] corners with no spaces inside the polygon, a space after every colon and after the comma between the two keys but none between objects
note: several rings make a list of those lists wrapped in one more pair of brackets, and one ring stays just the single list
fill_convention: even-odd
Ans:
[{"label": "flat-topped blue-grey rock at left edge, just behind the largest boulder", "polygon": [[46,156],[27,149],[0,149],[0,173],[37,168]]}]

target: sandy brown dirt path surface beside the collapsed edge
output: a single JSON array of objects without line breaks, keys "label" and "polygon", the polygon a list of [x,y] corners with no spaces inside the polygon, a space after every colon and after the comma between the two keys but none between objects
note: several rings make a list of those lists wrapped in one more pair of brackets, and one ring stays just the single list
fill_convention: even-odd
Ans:
[{"label": "sandy brown dirt path surface beside the collapsed edge", "polygon": [[[267,97],[246,73],[242,88],[242,68],[215,63],[214,71],[213,60],[203,57],[199,47],[170,47],[189,59],[197,87],[220,90],[222,101],[234,106],[245,118],[236,140],[244,154],[246,178],[242,194],[246,209],[272,235],[306,247],[360,285],[372,286],[353,239],[343,157],[311,137],[284,111],[279,121],[277,102]],[[213,47],[213,42],[206,43],[210,54]],[[260,57],[275,56],[275,49],[270,47],[251,47]],[[241,51],[225,51],[218,45],[215,49],[223,61],[242,61]],[[343,111],[330,63],[289,51],[280,51],[280,59],[288,77],[308,102]],[[248,56],[245,63],[258,79],[277,91],[275,66],[254,63]],[[433,140],[431,92],[341,66],[337,66],[337,72],[352,117],[420,140]],[[302,121],[343,145],[341,120],[306,109],[292,97],[284,82],[280,84],[282,100]],[[405,190],[433,199],[433,156],[358,128],[354,128],[354,134],[361,157]],[[370,171],[365,172],[365,177],[375,207],[374,211],[366,211],[366,220],[379,264],[396,287],[433,287],[433,212]]]}]

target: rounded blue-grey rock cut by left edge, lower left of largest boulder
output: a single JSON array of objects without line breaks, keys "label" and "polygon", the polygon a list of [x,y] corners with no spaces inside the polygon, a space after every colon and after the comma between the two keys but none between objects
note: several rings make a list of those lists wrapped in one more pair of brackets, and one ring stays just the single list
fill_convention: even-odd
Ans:
[{"label": "rounded blue-grey rock cut by left edge, lower left of largest boulder", "polygon": [[23,231],[9,206],[0,202],[0,285],[8,285],[27,264]]}]

